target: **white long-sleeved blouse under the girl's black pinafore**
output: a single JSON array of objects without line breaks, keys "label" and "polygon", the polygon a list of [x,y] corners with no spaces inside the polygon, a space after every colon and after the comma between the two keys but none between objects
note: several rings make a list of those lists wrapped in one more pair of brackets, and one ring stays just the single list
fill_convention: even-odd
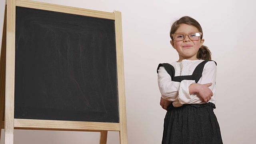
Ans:
[{"label": "white long-sleeved blouse under the girl's black pinafore", "polygon": [[[196,66],[204,60],[182,60],[181,62],[172,62],[171,65],[175,69],[175,76],[192,75]],[[213,92],[212,99],[209,102],[216,103],[216,64],[214,61],[209,61],[204,65],[202,77],[198,84],[207,84],[212,82],[209,88]],[[202,98],[197,94],[189,94],[188,87],[196,83],[195,80],[182,80],[181,82],[172,81],[171,76],[167,73],[164,67],[158,70],[158,87],[162,98],[173,102],[174,107],[182,106],[183,104],[204,104]]]}]

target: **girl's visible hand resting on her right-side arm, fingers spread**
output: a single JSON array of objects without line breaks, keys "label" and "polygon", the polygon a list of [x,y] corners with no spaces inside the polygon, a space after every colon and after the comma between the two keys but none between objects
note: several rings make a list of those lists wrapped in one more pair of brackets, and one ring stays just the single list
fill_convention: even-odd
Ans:
[{"label": "girl's visible hand resting on her right-side arm, fingers spread", "polygon": [[213,93],[209,86],[212,86],[212,83],[208,84],[191,84],[189,86],[189,92],[194,93],[196,92],[198,96],[200,96],[204,102],[209,102],[212,98]]}]

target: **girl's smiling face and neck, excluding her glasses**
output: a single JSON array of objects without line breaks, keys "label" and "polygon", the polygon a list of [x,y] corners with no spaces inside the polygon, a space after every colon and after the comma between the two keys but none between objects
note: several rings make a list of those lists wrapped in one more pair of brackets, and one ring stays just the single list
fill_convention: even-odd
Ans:
[{"label": "girl's smiling face and neck, excluding her glasses", "polygon": [[[180,24],[178,30],[175,33],[184,33],[188,34],[191,32],[200,32],[196,27],[190,26],[187,24]],[[179,54],[180,59],[178,62],[187,59],[187,60],[198,60],[196,54],[199,48],[203,45],[204,39],[199,40],[190,40],[188,36],[185,36],[182,41],[170,41],[172,47],[176,49]]]}]

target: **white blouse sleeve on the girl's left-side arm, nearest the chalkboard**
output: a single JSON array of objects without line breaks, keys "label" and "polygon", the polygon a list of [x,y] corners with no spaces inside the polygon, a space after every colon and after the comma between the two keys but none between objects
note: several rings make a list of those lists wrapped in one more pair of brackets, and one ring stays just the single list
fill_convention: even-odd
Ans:
[{"label": "white blouse sleeve on the girl's left-side arm, nearest the chalkboard", "polygon": [[195,83],[194,80],[174,82],[164,67],[161,66],[158,70],[158,87],[165,100],[174,102],[178,100],[178,96],[190,97],[188,86],[193,83]]}]

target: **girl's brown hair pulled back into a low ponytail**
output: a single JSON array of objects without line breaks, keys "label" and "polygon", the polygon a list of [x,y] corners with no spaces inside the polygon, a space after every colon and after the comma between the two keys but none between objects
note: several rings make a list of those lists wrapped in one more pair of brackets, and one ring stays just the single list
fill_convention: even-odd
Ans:
[{"label": "girl's brown hair pulled back into a low ponytail", "polygon": [[[174,34],[178,28],[180,27],[181,24],[187,24],[190,26],[196,27],[199,32],[202,32],[201,39],[203,38],[203,30],[200,24],[194,19],[189,16],[183,16],[179,20],[176,20],[171,27],[170,30],[170,37],[173,41],[172,34]],[[212,60],[211,58],[212,53],[210,52],[209,48],[207,46],[202,45],[201,48],[199,48],[196,58],[201,59],[201,60]]]}]

